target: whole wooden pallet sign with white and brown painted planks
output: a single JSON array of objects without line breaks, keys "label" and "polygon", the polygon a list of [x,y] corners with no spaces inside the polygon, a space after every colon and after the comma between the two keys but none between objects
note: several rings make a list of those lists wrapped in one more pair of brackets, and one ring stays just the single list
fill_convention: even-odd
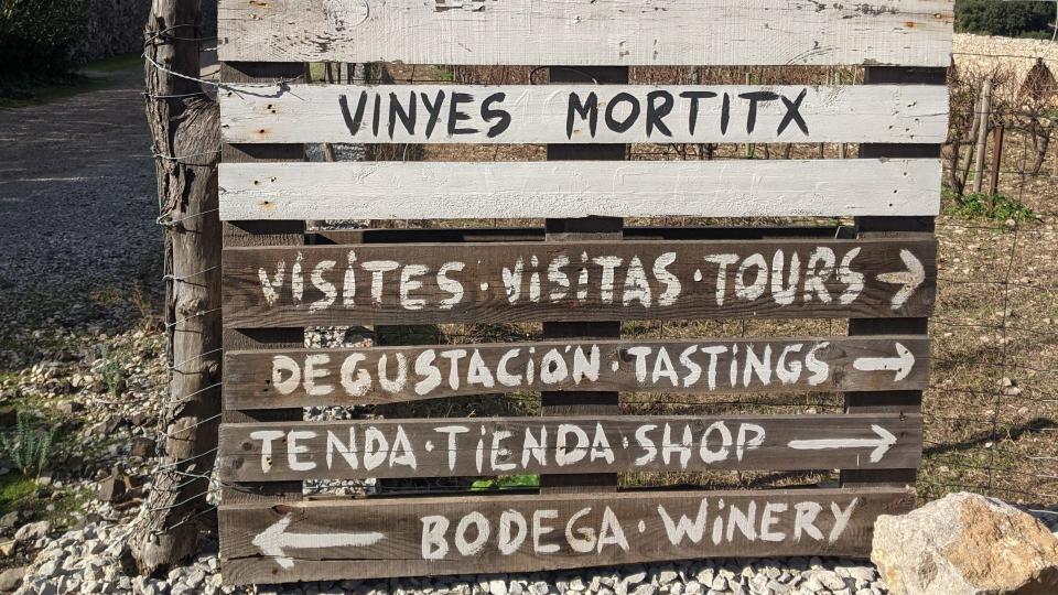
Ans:
[{"label": "whole wooden pallet sign with white and brown painted planks", "polygon": [[[225,582],[867,555],[877,516],[913,505],[922,454],[951,26],[950,0],[220,0]],[[305,62],[551,69],[548,85],[311,84]],[[644,85],[627,69],[725,65],[856,66],[866,84]],[[304,160],[305,143],[347,142],[546,144],[548,160]],[[633,143],[861,149],[625,161]],[[624,226],[671,216],[827,221]],[[429,225],[307,232],[316,219]],[[805,318],[850,332],[623,327]],[[508,323],[539,327],[304,340],[317,326]],[[844,411],[738,407],[817,393],[843,394]],[[538,416],[460,409],[538,396]],[[434,413],[359,415],[374,405]],[[324,407],[357,414],[306,418]],[[717,472],[813,483],[709,489]],[[814,483],[834,472],[836,487]],[[540,487],[471,489],[511,475]],[[381,491],[304,495],[321,480]]]}]

